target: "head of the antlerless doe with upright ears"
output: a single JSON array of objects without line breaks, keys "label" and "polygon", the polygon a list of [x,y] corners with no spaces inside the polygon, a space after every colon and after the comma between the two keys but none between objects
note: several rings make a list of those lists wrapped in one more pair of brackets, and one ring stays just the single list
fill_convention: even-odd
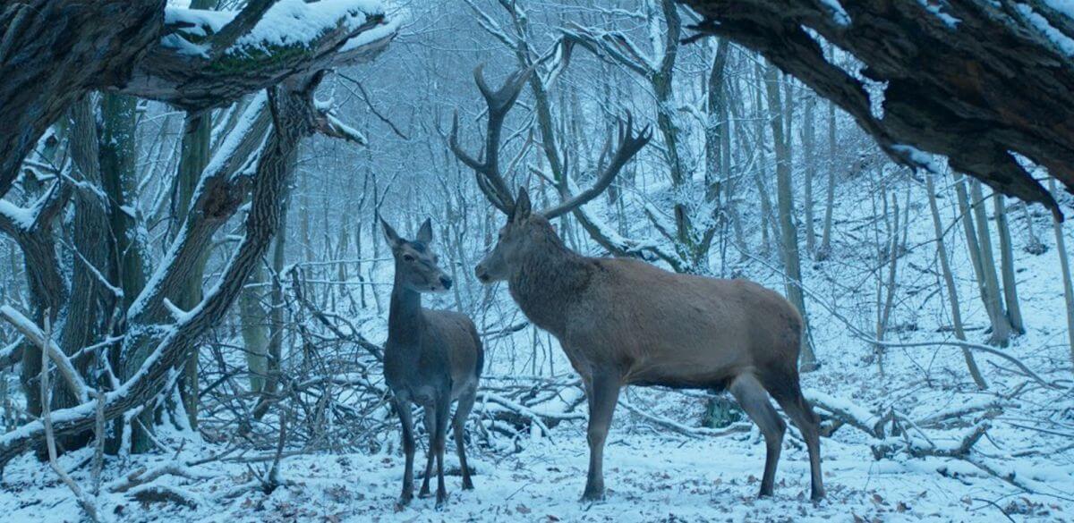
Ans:
[{"label": "head of the antlerless doe with upright ears", "polygon": [[433,253],[433,223],[425,220],[413,240],[401,237],[383,219],[384,239],[395,258],[395,280],[418,293],[445,293],[451,288],[451,278],[437,265]]}]

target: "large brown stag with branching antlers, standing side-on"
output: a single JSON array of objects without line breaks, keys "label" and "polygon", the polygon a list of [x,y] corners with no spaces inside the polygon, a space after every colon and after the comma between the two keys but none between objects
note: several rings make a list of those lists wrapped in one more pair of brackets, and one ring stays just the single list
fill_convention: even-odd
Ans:
[{"label": "large brown stag with branching antlers, standing side-on", "polygon": [[[525,188],[516,200],[498,166],[500,128],[531,71],[511,75],[498,90],[477,86],[488,103],[485,159],[458,143],[458,118],[449,145],[477,173],[489,200],[507,224],[477,265],[485,283],[506,281],[511,297],[534,325],[551,332],[582,378],[589,401],[589,475],[583,500],[604,497],[604,446],[627,385],[729,390],[760,428],[767,455],[760,495],[772,494],[786,425],[769,397],[801,431],[809,450],[812,498],[824,497],[818,418],[802,397],[798,352],[802,318],[779,294],[746,280],[677,274],[636,259],[586,257],[570,251],[550,220],[596,197],[650,139],[620,125],[619,147],[589,190],[533,212]],[[606,148],[607,150],[607,148]]]}]

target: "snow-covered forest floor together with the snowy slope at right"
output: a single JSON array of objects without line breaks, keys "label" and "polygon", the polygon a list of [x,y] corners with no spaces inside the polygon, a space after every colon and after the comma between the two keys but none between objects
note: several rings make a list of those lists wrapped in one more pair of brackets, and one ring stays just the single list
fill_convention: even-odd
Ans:
[{"label": "snow-covered forest floor together with the snowy slope at right", "polygon": [[[752,424],[749,432],[688,437],[621,406],[605,454],[608,497],[592,505],[578,500],[587,462],[580,420],[564,421],[542,437],[497,437],[491,444],[475,437],[468,449],[477,469],[476,490],[462,491],[459,476],[449,476],[450,497],[439,512],[432,499],[418,498],[395,510],[403,459],[394,430],[380,442],[379,453],[285,457],[279,469],[284,484],[271,494],[260,489],[258,479],[267,463],[237,461],[209,461],[184,467],[189,477],[165,475],[127,492],[113,492],[133,470],[204,461],[223,450],[179,432],[159,435],[163,446],[177,451],[110,458],[97,498],[99,511],[115,521],[1074,521],[1074,397],[1054,242],[1046,241],[1049,249],[1044,254],[1029,255],[1022,251],[1020,235],[1015,239],[1028,332],[1003,349],[1047,385],[1008,361],[976,353],[990,385],[989,390],[978,391],[957,347],[926,343],[953,338],[944,328],[949,319],[927,212],[915,206],[910,213],[909,250],[900,260],[899,300],[886,337],[925,345],[887,348],[880,375],[873,346],[856,337],[846,322],[859,332],[871,330],[876,278],[872,268],[883,263],[876,263],[875,252],[843,245],[830,262],[806,267],[813,342],[824,365],[803,376],[803,387],[808,397],[823,394],[859,418],[879,419],[897,410],[906,419],[921,420],[960,407],[1001,405],[989,419],[985,437],[966,457],[915,457],[904,448],[905,438],[879,440],[843,425],[822,440],[828,497],[814,505],[808,498],[804,446],[797,430],[789,429],[775,496],[758,499],[765,446]],[[860,228],[856,223],[869,212],[858,213],[839,222],[839,227]],[[1049,231],[1046,216],[1041,216],[1036,230]],[[1022,229],[1021,222],[1015,221],[1012,228]],[[964,253],[958,244],[960,230],[948,230],[953,251]],[[971,341],[981,343],[987,317],[972,270],[964,254],[957,255],[954,265]],[[745,271],[750,278],[782,288],[778,272],[757,264],[750,268]],[[506,300],[504,309],[517,314]],[[822,301],[825,307],[814,307]],[[368,325],[366,337],[381,341],[382,318]],[[510,350],[526,354],[531,335],[519,332]],[[510,374],[505,354],[504,346],[490,352],[491,375]],[[555,354],[562,359],[557,349]],[[556,365],[560,372],[567,368],[564,361]],[[625,397],[632,405],[682,427],[697,425],[702,403],[696,397],[654,389],[632,389]],[[479,401],[471,420],[481,408]],[[386,422],[395,423],[387,409],[383,415]],[[911,439],[928,438],[938,448],[957,446],[977,415],[979,409],[956,418],[957,423],[910,431]],[[877,460],[873,447],[883,443],[896,450]],[[448,448],[447,468],[458,470],[453,445]],[[422,444],[418,468],[424,463],[423,450]],[[91,487],[89,461],[88,449],[60,458],[61,466],[84,489]],[[71,492],[32,455],[20,457],[4,472],[0,514],[13,522],[79,520]]]}]

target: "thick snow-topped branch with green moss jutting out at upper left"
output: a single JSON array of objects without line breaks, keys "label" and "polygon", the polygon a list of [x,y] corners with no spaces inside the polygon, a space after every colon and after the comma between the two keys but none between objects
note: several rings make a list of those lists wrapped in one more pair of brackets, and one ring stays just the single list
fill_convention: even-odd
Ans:
[{"label": "thick snow-topped branch with green moss jutting out at upper left", "polygon": [[201,110],[294,74],[365,62],[395,35],[384,14],[368,9],[358,0],[257,1],[238,13],[169,8],[160,44],[113,88]]}]

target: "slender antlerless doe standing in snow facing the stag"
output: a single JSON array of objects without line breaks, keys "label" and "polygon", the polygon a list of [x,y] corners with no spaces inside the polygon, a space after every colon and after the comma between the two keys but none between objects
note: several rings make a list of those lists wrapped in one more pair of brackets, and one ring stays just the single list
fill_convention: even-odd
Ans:
[{"label": "slender antlerless doe standing in snow facing the stag", "polygon": [[452,311],[432,311],[421,307],[423,293],[444,293],[451,279],[437,267],[437,256],[430,245],[433,225],[429,220],[413,241],[401,238],[381,220],[384,238],[395,258],[395,283],[388,312],[388,342],[384,344],[384,382],[392,391],[392,402],[403,423],[403,451],[406,469],[400,505],[413,496],[413,419],[410,404],[424,407],[429,453],[425,477],[419,496],[429,495],[433,459],[436,459],[436,507],[447,498],[444,487],[444,439],[451,403],[459,401],[451,418],[462,469],[463,490],[470,490],[470,470],[466,465],[463,428],[474,407],[477,386],[484,364],[484,350],[477,329],[466,315]]}]

